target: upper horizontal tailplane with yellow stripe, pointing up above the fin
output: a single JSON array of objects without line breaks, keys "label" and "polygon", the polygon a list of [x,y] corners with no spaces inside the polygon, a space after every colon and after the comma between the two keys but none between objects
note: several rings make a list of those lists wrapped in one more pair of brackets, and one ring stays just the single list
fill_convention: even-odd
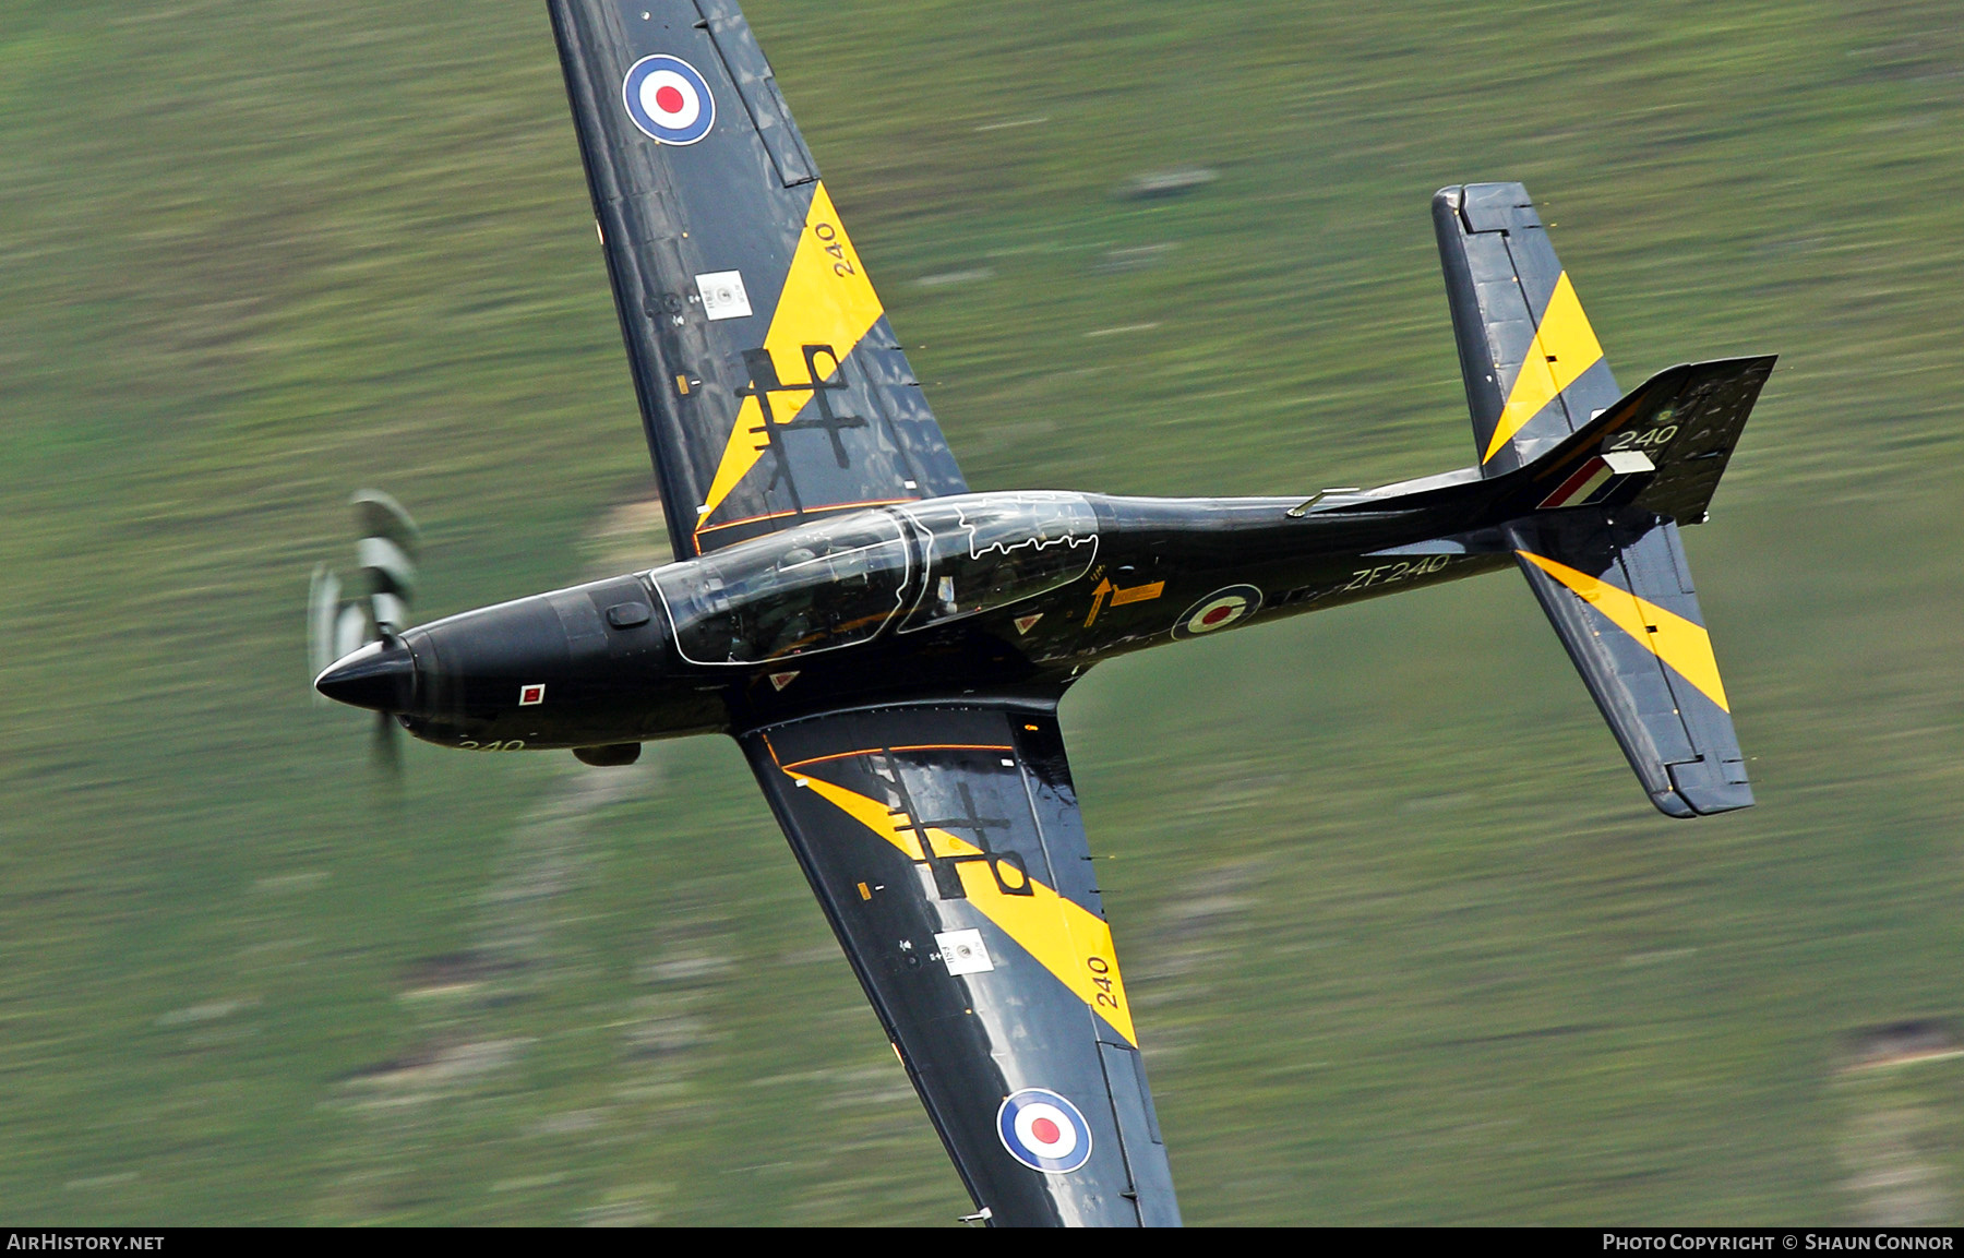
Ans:
[{"label": "upper horizontal tailplane with yellow stripe, pointing up above the fin", "polygon": [[1620,394],[1528,190],[1440,188],[1432,226],[1481,473],[1532,463]]}]

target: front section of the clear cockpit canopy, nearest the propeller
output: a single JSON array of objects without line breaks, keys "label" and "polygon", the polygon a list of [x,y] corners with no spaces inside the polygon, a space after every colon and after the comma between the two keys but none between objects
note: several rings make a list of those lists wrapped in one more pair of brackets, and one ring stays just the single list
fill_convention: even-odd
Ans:
[{"label": "front section of the clear cockpit canopy, nearest the propeller", "polygon": [[691,663],[764,663],[864,642],[907,593],[901,524],[868,512],[652,573]]}]

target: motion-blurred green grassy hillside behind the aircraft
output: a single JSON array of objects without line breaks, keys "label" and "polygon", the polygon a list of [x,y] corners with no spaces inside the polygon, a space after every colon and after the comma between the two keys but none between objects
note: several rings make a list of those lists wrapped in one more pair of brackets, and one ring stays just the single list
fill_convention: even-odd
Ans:
[{"label": "motion-blurred green grassy hillside behind the aircraft", "polygon": [[[1752,812],[1514,577],[1072,693],[1190,1223],[1964,1219],[1952,0],[746,8],[978,489],[1467,465],[1447,183],[1624,385],[1783,355],[1687,534]],[[430,616],[660,559],[544,6],[0,4],[0,1217],[964,1213],[729,742],[308,703],[365,485]]]}]

